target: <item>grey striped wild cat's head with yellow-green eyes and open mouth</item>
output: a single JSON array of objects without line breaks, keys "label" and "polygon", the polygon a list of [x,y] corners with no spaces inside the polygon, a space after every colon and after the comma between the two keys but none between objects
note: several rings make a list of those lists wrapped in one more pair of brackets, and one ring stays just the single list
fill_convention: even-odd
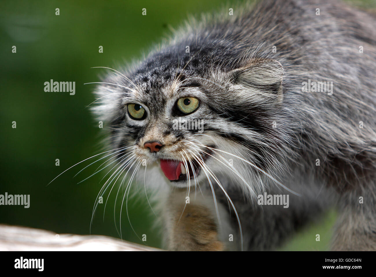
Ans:
[{"label": "grey striped wild cat's head with yellow-green eyes and open mouth", "polygon": [[178,187],[227,176],[261,188],[262,171],[285,153],[282,65],[229,47],[185,49],[165,47],[131,70],[112,70],[97,88],[94,112],[107,122],[119,165],[146,166],[148,181]]}]

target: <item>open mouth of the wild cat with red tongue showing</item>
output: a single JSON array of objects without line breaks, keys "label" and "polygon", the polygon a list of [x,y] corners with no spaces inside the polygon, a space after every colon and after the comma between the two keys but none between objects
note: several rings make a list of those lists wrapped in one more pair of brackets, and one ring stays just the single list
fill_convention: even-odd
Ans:
[{"label": "open mouth of the wild cat with red tongue showing", "polygon": [[[210,154],[209,151],[208,154]],[[204,162],[208,159],[208,154],[200,154]],[[167,179],[171,182],[185,181],[187,179],[188,173],[190,179],[193,179],[195,175],[196,177],[199,176],[201,172],[201,165],[199,164],[199,162],[197,162],[196,160],[191,160],[191,162],[187,161],[186,163],[188,165],[188,168],[186,168],[183,161],[161,159],[161,169]]]}]

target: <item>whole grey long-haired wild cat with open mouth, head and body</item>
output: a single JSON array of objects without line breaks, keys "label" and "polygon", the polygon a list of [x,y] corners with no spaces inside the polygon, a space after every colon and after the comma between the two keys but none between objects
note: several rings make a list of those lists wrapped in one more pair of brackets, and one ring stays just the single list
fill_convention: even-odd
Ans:
[{"label": "whole grey long-haired wild cat with open mouth, head and body", "polygon": [[[273,249],[333,206],[332,249],[376,250],[375,18],[337,1],[262,1],[233,13],[192,23],[103,81],[120,86],[97,89],[112,148],[135,145],[129,166],[146,161],[160,192],[167,247],[241,249],[238,215],[244,249]],[[304,82],[329,83],[306,92]],[[199,106],[185,114],[177,101],[188,96]],[[130,103],[144,117],[132,119]],[[176,130],[179,117],[202,119],[203,133]],[[168,162],[200,155],[205,165],[183,162],[201,167],[202,192],[194,196],[190,179],[186,204],[187,181],[174,180],[184,168]],[[264,191],[288,194],[288,208],[258,205]]]}]

